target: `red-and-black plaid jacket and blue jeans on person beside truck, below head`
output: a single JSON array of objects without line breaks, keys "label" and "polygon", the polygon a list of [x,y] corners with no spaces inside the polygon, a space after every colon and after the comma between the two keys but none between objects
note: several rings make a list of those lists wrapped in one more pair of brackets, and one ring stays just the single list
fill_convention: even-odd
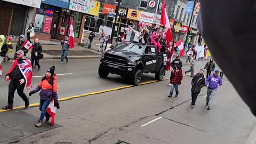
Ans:
[{"label": "red-and-black plaid jacket and blue jeans on person beside truck, below head", "polygon": [[175,70],[172,69],[172,74],[171,74],[171,77],[170,77],[170,79],[171,79],[170,84],[172,84],[172,85],[171,85],[170,94],[168,95],[169,98],[172,97],[174,88],[175,88],[175,91],[176,91],[175,97],[178,97],[178,95],[179,95],[178,86],[181,84],[182,78],[183,78],[183,75],[182,75],[182,69],[181,68],[176,68]]}]

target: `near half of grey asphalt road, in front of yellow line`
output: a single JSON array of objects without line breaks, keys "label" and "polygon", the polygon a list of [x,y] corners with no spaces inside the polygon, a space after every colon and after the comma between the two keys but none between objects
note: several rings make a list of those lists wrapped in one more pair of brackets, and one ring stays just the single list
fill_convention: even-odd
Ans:
[{"label": "near half of grey asphalt road, in front of yellow line", "polygon": [[38,107],[0,113],[0,143],[244,143],[256,119],[228,79],[223,78],[210,111],[205,107],[205,87],[195,109],[190,108],[190,82],[191,77],[183,78],[178,98],[167,98],[170,86],[162,81],[62,101],[54,126],[34,126]]}]

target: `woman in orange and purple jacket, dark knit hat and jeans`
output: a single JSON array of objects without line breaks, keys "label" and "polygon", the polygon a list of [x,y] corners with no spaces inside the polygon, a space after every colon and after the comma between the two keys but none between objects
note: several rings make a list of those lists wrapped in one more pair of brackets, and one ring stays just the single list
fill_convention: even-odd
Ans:
[{"label": "woman in orange and purple jacket, dark knit hat and jeans", "polygon": [[57,107],[58,109],[60,108],[60,104],[58,102],[58,81],[57,75],[54,74],[54,70],[54,66],[49,68],[46,75],[42,78],[36,89],[29,92],[29,96],[31,96],[32,94],[41,90],[39,94],[39,110],[41,111],[41,115],[38,122],[36,123],[36,127],[42,126],[44,117],[46,117],[46,122],[49,121],[50,115],[46,112],[46,108],[50,105],[52,100],[54,100],[54,107]]}]

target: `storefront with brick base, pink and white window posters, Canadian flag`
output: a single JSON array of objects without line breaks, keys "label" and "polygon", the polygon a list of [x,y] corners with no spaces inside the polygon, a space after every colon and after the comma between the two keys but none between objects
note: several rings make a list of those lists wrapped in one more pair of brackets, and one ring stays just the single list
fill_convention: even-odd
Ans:
[{"label": "storefront with brick base, pink and white window posters, Canadian flag", "polygon": [[35,10],[35,37],[43,41],[50,41],[51,38],[63,39],[68,34],[71,17],[75,31],[75,43],[79,42],[78,39],[82,38],[83,13],[69,10],[69,2],[69,0],[42,1],[41,7]]}]

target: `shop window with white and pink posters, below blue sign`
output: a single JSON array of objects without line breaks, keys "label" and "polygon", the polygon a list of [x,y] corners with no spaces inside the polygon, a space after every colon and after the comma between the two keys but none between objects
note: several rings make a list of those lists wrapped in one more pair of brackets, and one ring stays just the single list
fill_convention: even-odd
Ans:
[{"label": "shop window with white and pink posters, below blue sign", "polygon": [[42,4],[40,9],[36,9],[35,15],[35,28],[36,32],[42,32],[50,34],[53,14],[55,11],[58,11],[54,6]]}]

